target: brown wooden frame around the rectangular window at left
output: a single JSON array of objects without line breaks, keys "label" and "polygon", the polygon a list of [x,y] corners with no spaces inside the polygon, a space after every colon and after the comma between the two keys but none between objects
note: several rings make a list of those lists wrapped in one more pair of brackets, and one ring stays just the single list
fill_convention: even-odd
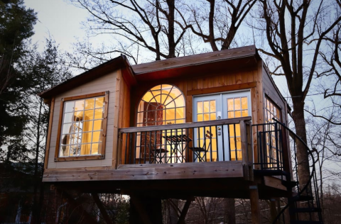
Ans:
[{"label": "brown wooden frame around the rectangular window at left", "polygon": [[[67,101],[75,101],[79,99],[87,99],[93,98],[97,96],[104,96],[104,116],[103,116],[103,136],[102,136],[102,148],[99,149],[98,155],[82,155],[75,157],[59,157],[60,151],[60,137],[62,132],[63,125],[63,115],[64,115],[64,105]],[[101,91],[94,94],[85,94],[79,96],[70,96],[65,97],[60,100],[60,112],[59,112],[59,121],[58,121],[58,133],[57,140],[55,144],[55,162],[60,161],[75,161],[75,160],[92,160],[92,159],[104,159],[105,155],[105,143],[107,137],[107,116],[108,116],[108,104],[109,104],[109,91]]]}]

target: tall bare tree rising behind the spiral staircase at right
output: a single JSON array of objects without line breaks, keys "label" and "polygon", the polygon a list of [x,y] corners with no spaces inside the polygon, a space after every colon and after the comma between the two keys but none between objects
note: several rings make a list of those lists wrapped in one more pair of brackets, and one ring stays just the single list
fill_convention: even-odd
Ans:
[{"label": "tall bare tree rising behind the spiral staircase at right", "polygon": [[[341,21],[341,2],[262,0],[260,3],[258,23],[253,23],[253,28],[263,32],[269,47],[262,47],[259,51],[277,62],[272,74],[286,78],[296,133],[307,142],[305,99],[319,72],[319,52],[325,37]],[[297,158],[298,177],[304,186],[310,174],[308,152],[299,142]]]}]

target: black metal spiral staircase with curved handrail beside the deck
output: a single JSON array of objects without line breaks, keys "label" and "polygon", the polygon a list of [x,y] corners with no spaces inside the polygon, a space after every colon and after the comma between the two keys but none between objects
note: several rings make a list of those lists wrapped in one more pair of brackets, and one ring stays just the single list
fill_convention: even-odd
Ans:
[{"label": "black metal spiral staircase with curved handrail beside the deck", "polygon": [[[255,166],[259,167],[255,173],[263,176],[281,177],[281,183],[286,186],[288,192],[286,206],[281,208],[273,223],[322,224],[318,179],[315,171],[316,161],[313,151],[296,133],[279,121],[274,120],[274,123],[254,126],[257,128],[259,160],[258,163],[255,163]],[[283,141],[283,138],[289,140],[288,146],[284,145],[287,141]],[[292,174],[284,171],[283,162],[286,162],[282,151],[284,147],[289,147],[291,150]],[[300,184],[298,179],[299,164],[296,157],[298,147],[304,147],[309,157],[310,176],[304,185]]]}]

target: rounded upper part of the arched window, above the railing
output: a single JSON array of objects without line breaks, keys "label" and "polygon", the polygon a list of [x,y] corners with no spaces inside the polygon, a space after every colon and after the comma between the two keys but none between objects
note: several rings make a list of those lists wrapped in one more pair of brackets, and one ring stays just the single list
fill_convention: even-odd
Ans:
[{"label": "rounded upper part of the arched window, above the railing", "polygon": [[185,98],[175,86],[162,84],[149,89],[137,111],[137,126],[185,123]]}]

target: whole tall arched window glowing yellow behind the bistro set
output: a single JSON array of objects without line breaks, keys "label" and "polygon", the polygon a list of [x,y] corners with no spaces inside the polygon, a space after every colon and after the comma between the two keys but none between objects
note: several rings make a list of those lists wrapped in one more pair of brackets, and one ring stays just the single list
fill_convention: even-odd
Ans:
[{"label": "whole tall arched window glowing yellow behind the bistro set", "polygon": [[[161,84],[149,89],[139,103],[137,111],[137,126],[170,125],[185,123],[185,97],[180,89],[173,85]],[[143,157],[156,157],[159,152],[167,159],[159,159],[158,162],[181,162],[184,155],[172,153],[166,136],[184,135],[185,130],[154,131],[138,135],[136,141],[136,159]],[[174,146],[173,146],[174,147]],[[183,145],[177,145],[183,148]],[[162,152],[164,151],[164,152]],[[165,155],[166,153],[167,155]],[[180,158],[180,159],[179,159]],[[151,158],[150,162],[156,162]]]}]

